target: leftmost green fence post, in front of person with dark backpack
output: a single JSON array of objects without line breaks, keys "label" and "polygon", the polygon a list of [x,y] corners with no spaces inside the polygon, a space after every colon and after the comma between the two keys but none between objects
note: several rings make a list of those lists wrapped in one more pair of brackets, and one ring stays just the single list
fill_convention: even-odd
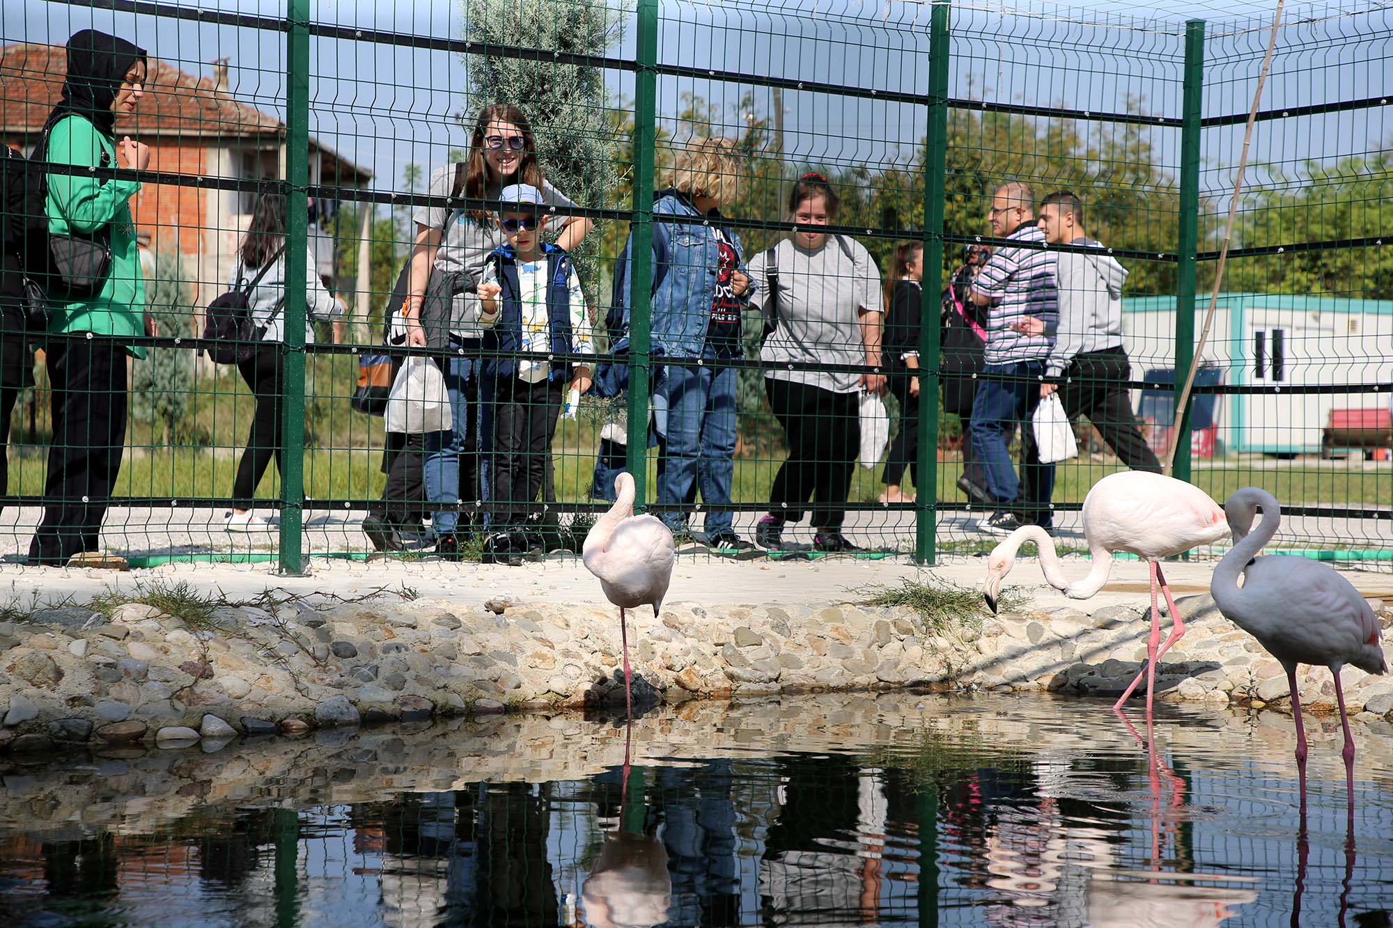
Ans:
[{"label": "leftmost green fence post, in front of person with dark backpack", "polygon": [[305,262],[309,216],[309,0],[290,0],[286,36],[286,304],[281,323],[280,573],[305,573]]}]

